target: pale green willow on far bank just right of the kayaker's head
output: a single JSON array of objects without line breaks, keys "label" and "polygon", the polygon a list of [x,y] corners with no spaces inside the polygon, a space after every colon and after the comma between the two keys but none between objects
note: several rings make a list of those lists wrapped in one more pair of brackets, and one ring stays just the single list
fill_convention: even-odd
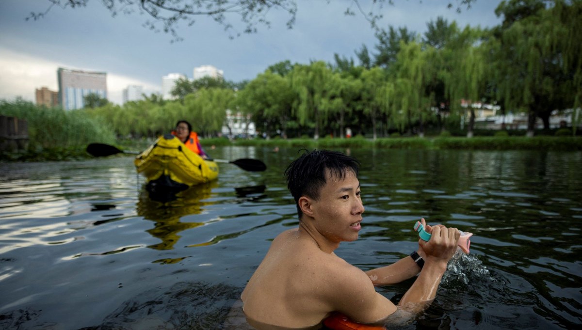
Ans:
[{"label": "pale green willow on far bank just right of the kayaker's head", "polygon": [[194,94],[186,95],[184,108],[192,129],[204,137],[222,130],[226,120],[226,110],[235,103],[235,92],[227,88],[201,88]]}]

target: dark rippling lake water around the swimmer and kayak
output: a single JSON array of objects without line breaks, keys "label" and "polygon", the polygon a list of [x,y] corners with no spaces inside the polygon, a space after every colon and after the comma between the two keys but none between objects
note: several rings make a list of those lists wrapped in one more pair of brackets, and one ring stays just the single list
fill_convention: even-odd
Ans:
[{"label": "dark rippling lake water around the swimmer and kayak", "polygon": [[[406,329],[582,324],[582,153],[341,150],[362,163],[356,242],[368,270],[417,246],[425,217],[474,233]],[[283,170],[297,149],[223,147],[263,173],[151,196],[132,157],[0,164],[0,329],[221,329],[279,232],[297,225]],[[411,280],[412,281],[412,280]],[[411,281],[378,288],[398,302]]]}]

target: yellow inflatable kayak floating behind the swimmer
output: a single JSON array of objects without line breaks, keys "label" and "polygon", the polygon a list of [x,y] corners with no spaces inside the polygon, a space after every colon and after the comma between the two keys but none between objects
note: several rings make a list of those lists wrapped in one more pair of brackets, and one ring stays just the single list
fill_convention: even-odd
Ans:
[{"label": "yellow inflatable kayak floating behind the swimmer", "polygon": [[203,159],[171,134],[137,155],[134,164],[148,185],[159,188],[186,189],[218,177],[216,162]]}]

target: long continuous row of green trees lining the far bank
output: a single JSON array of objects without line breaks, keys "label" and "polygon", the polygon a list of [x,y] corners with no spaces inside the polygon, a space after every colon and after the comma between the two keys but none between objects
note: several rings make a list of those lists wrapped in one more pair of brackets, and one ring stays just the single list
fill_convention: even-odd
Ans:
[{"label": "long continuous row of green trees lining the far bank", "polygon": [[[439,17],[420,36],[404,28],[377,33],[377,52],[356,51],[359,63],[335,54],[335,63],[275,63],[239,84],[180,80],[175,101],[157,95],[123,106],[86,109],[121,137],[155,137],[185,119],[204,137],[218,135],[227,113],[242,113],[267,137],[343,137],[347,127],[372,138],[423,135],[427,127],[455,128],[475,109],[498,102],[504,113],[530,114],[545,124],[552,111],[582,101],[582,1],[510,0],[497,9],[503,23],[482,30]],[[132,123],[128,125],[127,123]],[[530,126],[531,127],[531,126]],[[575,132],[575,127],[574,127]],[[457,132],[458,133],[458,132]]]}]

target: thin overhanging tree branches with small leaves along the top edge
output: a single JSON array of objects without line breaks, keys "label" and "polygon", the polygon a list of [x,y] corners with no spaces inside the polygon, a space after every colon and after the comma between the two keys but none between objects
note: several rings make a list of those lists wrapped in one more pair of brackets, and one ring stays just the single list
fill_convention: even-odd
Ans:
[{"label": "thin overhanging tree branches with small leaves along the top edge", "polygon": [[[49,7],[44,12],[31,12],[27,20],[38,20],[54,7],[80,8],[87,6],[89,0],[47,0]],[[387,3],[393,5],[394,0],[327,0],[346,2],[345,15],[361,13],[370,22],[375,30],[378,30],[378,21],[382,19],[382,9]],[[418,0],[420,1],[420,0]],[[475,0],[456,0],[456,10],[460,12],[462,6],[470,8]],[[211,17],[217,24],[224,27],[230,38],[239,37],[240,31],[233,25],[231,16],[239,16],[244,24],[243,33],[256,33],[258,26],[271,27],[268,19],[269,11],[283,10],[288,13],[286,26],[293,28],[297,15],[297,0],[101,0],[102,5],[111,12],[112,16],[123,13],[130,15],[139,12],[145,13],[151,19],[145,21],[144,26],[156,32],[164,31],[172,35],[172,41],[181,41],[178,28],[180,23],[187,26],[196,24],[196,18],[201,16]],[[448,2],[448,8],[453,8],[452,2]],[[353,9],[355,8],[355,9]],[[368,8],[368,9],[364,9]],[[158,25],[162,27],[159,28]]]}]

